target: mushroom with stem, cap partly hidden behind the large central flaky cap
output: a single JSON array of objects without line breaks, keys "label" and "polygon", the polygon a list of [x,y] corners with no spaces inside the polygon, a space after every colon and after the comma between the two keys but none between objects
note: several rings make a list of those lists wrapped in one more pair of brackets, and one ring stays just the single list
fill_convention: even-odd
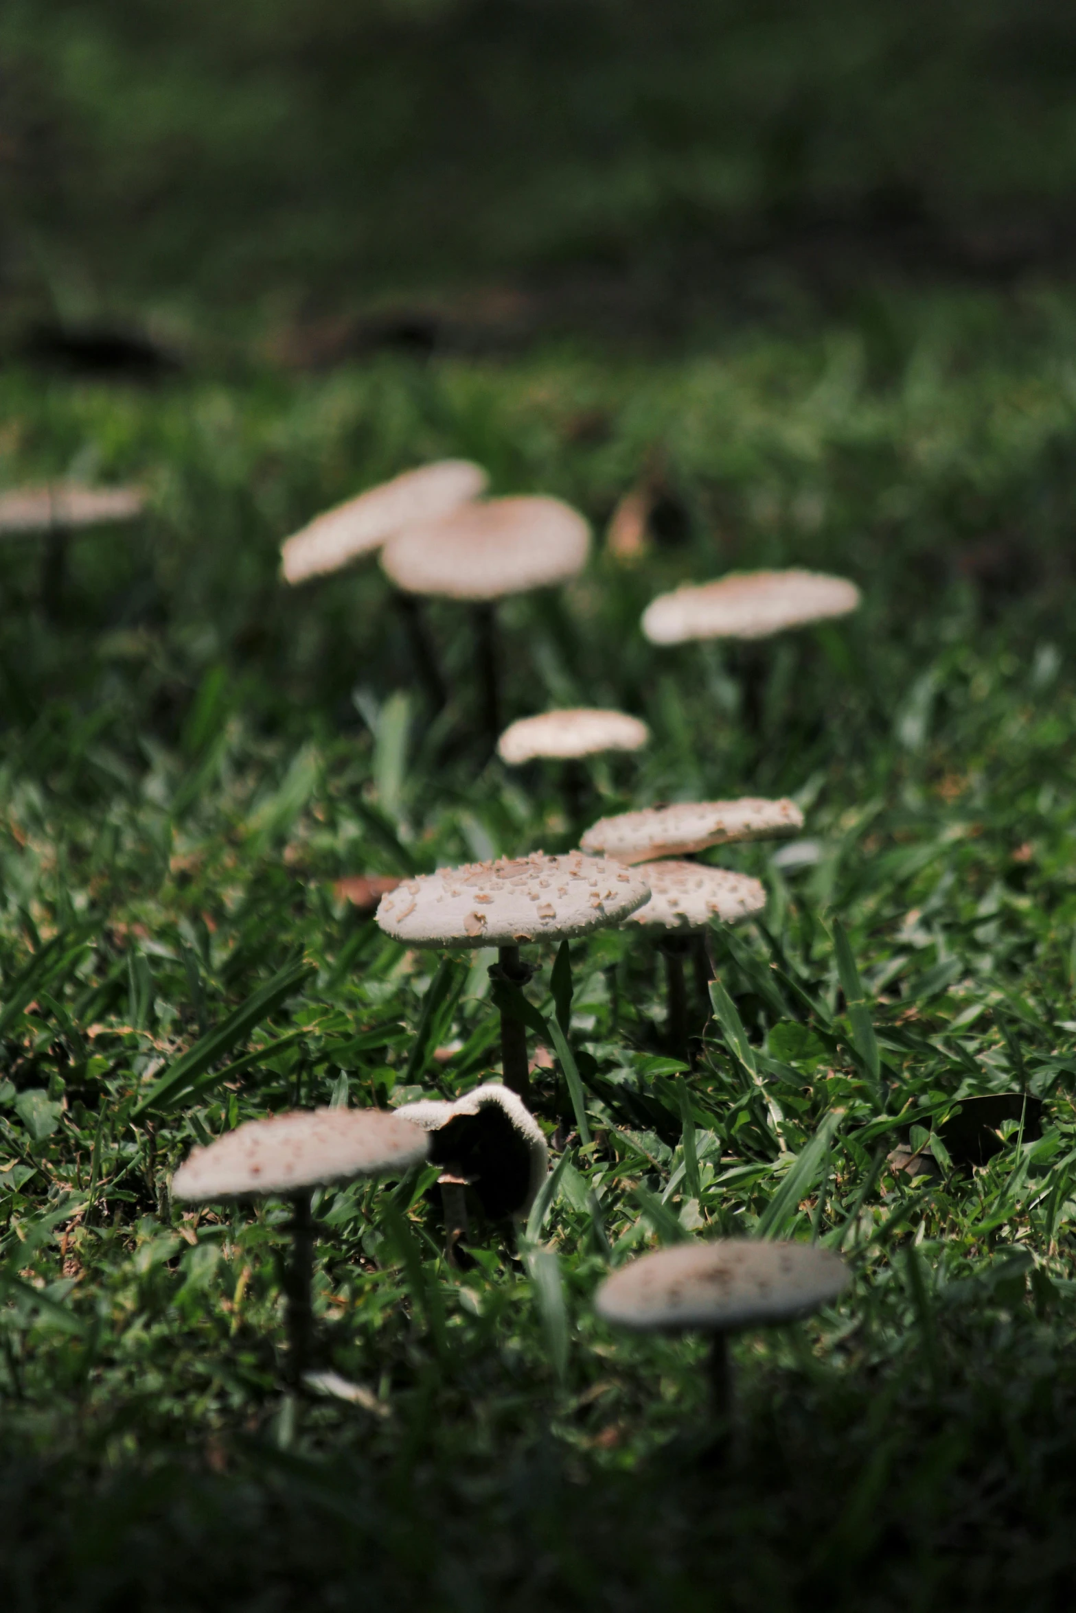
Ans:
[{"label": "mushroom with stem, cap partly hidden behind the large central flaky cap", "polygon": [[[658,947],[665,958],[668,989],[668,1037],[674,1058],[689,1061],[687,1039],[687,984],[684,958],[695,948],[700,961],[699,931],[716,919],[736,924],[737,919],[761,913],[766,905],[766,889],[749,874],[736,874],[728,868],[708,868],[705,863],[639,863],[636,871],[650,886],[650,900],[629,913],[628,924],[640,924],[658,932]],[[702,984],[702,982],[700,982]]]}]

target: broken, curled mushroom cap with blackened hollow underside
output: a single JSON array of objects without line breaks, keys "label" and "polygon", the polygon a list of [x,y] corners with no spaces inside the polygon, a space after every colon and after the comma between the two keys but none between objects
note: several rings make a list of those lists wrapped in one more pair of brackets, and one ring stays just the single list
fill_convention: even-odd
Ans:
[{"label": "broken, curled mushroom cap with blackened hollow underside", "polygon": [[429,1158],[455,1166],[490,1216],[526,1216],[548,1171],[548,1148],[531,1110],[498,1081],[453,1103],[421,1098],[395,1111],[432,1132]]}]

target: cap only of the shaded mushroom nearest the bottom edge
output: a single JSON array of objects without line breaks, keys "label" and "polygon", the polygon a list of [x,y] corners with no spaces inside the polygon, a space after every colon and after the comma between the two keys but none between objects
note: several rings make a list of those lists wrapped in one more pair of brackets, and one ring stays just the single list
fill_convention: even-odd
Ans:
[{"label": "cap only of the shaded mushroom nearest the bottom edge", "polygon": [[795,1321],[845,1287],[840,1255],[818,1244],[728,1237],[676,1244],[621,1266],[597,1292],[605,1321],[640,1332],[731,1332]]}]

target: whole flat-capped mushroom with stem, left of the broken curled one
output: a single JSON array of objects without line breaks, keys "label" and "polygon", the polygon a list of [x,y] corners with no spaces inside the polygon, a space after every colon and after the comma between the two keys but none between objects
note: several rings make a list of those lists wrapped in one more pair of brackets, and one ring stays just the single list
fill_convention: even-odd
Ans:
[{"label": "whole flat-capped mushroom with stem, left of the broken curled one", "polygon": [[360,1176],[403,1176],[426,1158],[429,1139],[381,1110],[319,1108],[252,1119],[205,1148],[192,1148],[173,1177],[186,1203],[289,1198],[294,1218],[287,1294],[289,1381],[300,1387],[313,1337],[311,1190]]}]

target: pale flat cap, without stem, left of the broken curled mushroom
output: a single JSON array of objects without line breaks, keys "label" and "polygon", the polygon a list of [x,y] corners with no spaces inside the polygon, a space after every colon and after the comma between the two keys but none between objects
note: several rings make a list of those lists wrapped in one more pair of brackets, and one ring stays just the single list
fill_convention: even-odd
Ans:
[{"label": "pale flat cap, without stem, left of the broken curled mushroom", "polygon": [[357,1176],[400,1176],[429,1140],[382,1110],[295,1110],[250,1119],[206,1148],[192,1148],[173,1177],[184,1200],[261,1198]]}]

